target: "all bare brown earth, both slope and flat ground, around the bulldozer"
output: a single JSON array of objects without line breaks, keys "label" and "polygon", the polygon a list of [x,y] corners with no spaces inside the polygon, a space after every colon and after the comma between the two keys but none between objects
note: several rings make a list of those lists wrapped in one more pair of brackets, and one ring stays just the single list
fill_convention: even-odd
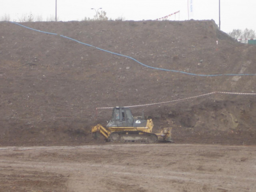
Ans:
[{"label": "all bare brown earth, both slope and flat ground, around the bulldozer", "polygon": [[[213,20],[0,22],[0,191],[255,191],[255,53]],[[175,143],[94,140],[113,106]]]}]

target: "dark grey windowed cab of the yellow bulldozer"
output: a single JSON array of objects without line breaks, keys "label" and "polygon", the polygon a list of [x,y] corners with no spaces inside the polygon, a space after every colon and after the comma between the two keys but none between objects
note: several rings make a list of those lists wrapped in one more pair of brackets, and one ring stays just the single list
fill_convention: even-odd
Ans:
[{"label": "dark grey windowed cab of the yellow bulldozer", "polygon": [[133,126],[133,115],[129,108],[119,108],[113,109],[111,126]]}]

